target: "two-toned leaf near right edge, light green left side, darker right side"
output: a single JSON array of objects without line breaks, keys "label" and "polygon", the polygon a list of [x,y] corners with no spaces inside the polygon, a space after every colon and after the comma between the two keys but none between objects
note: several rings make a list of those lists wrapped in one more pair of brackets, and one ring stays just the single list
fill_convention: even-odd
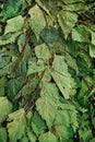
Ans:
[{"label": "two-toned leaf near right edge, light green left side, darker right side", "polygon": [[72,29],[72,39],[76,42],[90,43],[91,32],[85,25],[78,25]]}]

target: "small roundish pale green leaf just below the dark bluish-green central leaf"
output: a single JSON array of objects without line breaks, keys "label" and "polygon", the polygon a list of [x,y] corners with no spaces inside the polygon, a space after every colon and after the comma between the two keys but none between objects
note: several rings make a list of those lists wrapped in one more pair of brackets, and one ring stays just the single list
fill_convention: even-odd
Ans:
[{"label": "small roundish pale green leaf just below the dark bluish-green central leaf", "polygon": [[48,61],[51,57],[50,50],[47,45],[38,45],[35,47],[36,57],[43,59],[44,61]]}]

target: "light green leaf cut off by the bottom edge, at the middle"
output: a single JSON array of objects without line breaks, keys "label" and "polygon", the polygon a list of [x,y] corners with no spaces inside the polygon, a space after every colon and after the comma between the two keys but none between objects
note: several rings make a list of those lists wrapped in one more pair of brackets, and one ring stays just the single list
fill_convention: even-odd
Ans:
[{"label": "light green leaf cut off by the bottom edge, at the middle", "polygon": [[39,142],[58,142],[57,137],[48,131],[39,137]]}]

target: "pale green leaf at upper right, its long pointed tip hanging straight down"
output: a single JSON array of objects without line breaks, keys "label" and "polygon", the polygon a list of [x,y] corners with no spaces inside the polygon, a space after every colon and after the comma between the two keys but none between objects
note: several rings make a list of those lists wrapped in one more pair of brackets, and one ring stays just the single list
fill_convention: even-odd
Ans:
[{"label": "pale green leaf at upper right, its long pointed tip hanging straight down", "polygon": [[78,21],[78,15],[75,13],[61,11],[58,14],[58,22],[63,31],[66,39],[68,38],[68,35],[71,33],[72,27],[75,25],[76,21]]}]

